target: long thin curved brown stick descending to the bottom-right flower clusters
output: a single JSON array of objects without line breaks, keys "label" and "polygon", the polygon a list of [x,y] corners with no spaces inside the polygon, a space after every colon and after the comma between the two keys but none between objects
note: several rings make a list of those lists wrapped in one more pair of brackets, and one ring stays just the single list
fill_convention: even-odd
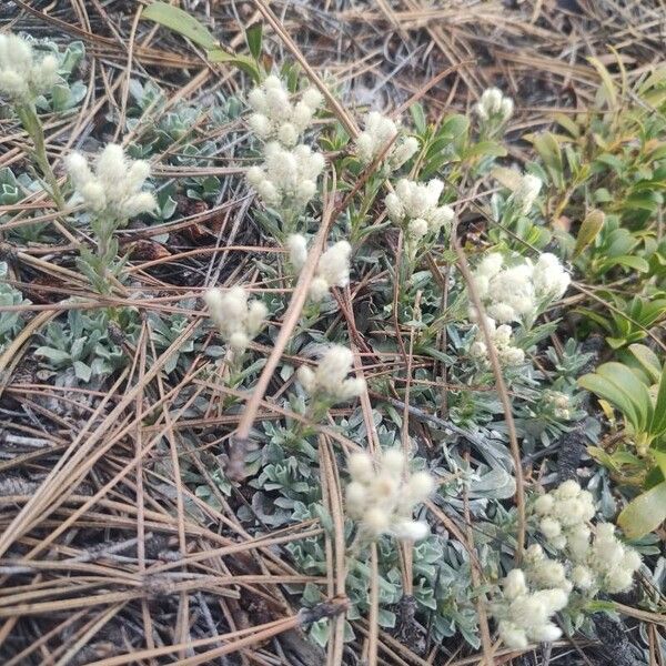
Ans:
[{"label": "long thin curved brown stick descending to the bottom-right flower clusters", "polygon": [[493,366],[493,374],[495,375],[495,382],[497,383],[497,394],[504,408],[504,417],[506,420],[506,430],[508,432],[508,441],[511,444],[511,454],[514,461],[515,474],[516,474],[516,509],[518,512],[518,535],[516,544],[515,563],[519,564],[523,557],[523,549],[525,548],[525,482],[523,480],[523,464],[521,461],[521,448],[518,446],[518,437],[516,435],[516,426],[513,420],[512,404],[506,391],[506,384],[504,383],[504,375],[502,374],[502,366],[500,365],[500,359],[497,357],[497,351],[493,344],[493,337],[491,336],[491,330],[487,324],[485,310],[481,299],[478,297],[478,291],[474,284],[474,278],[470,272],[470,265],[467,264],[467,258],[461,248],[461,244],[456,238],[452,239],[453,246],[458,258],[458,269],[467,285],[472,304],[477,313],[477,324],[483,332],[491,365]]}]

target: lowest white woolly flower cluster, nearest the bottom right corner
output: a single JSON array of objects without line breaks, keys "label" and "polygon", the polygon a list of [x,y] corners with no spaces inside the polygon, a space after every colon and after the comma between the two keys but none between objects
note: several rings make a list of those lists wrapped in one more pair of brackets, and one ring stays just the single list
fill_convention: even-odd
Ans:
[{"label": "lowest white woolly flower cluster, nearest the bottom right corner", "polygon": [[493,604],[492,613],[498,619],[497,629],[508,647],[524,648],[529,642],[552,642],[562,632],[551,622],[562,610],[568,594],[558,586],[532,589],[525,572],[508,572],[503,583],[503,597]]}]

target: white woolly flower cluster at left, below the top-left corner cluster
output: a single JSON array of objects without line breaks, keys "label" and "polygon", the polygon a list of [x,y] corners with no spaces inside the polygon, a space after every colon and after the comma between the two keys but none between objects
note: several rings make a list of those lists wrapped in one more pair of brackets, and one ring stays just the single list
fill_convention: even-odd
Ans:
[{"label": "white woolly flower cluster at left, below the top-left corner cluster", "polygon": [[85,158],[71,153],[65,165],[78,196],[95,213],[119,221],[152,211],[155,198],[141,188],[150,174],[143,160],[128,160],[122,147],[109,143],[99,154],[91,170]]}]

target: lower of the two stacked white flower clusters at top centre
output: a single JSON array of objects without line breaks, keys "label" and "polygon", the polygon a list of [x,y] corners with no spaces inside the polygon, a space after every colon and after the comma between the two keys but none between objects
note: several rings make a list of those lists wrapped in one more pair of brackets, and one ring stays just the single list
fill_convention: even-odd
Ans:
[{"label": "lower of the two stacked white flower clusters at top centre", "polygon": [[264,150],[263,167],[251,167],[248,182],[269,206],[301,210],[316,194],[316,179],[324,170],[324,157],[309,145],[285,149],[272,141]]}]

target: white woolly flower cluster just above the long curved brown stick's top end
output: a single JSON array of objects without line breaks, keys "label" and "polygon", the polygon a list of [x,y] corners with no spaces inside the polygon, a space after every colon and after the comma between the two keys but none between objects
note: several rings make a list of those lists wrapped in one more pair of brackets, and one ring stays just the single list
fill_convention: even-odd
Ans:
[{"label": "white woolly flower cluster just above the long curved brown stick's top end", "polygon": [[448,230],[455,216],[448,205],[440,205],[444,183],[433,179],[421,184],[402,179],[395,192],[386,195],[384,203],[389,218],[405,228],[410,239],[417,241],[426,234],[436,234],[442,228]]}]

